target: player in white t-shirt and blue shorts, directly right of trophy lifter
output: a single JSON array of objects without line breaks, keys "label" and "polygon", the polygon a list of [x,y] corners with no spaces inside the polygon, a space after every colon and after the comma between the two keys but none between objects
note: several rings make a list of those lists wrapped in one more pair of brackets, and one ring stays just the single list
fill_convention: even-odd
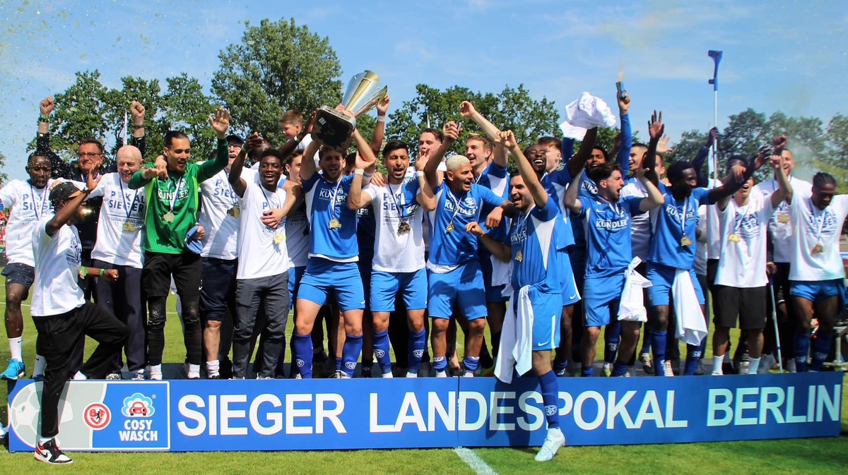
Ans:
[{"label": "player in white t-shirt and blue shorts, directly right of trophy lifter", "polygon": [[371,314],[374,319],[374,350],[383,378],[392,377],[389,356],[389,313],[398,293],[404,295],[410,329],[407,378],[417,378],[421,356],[427,345],[424,312],[427,309],[427,272],[424,269],[424,238],[421,221],[424,211],[436,207],[432,188],[424,177],[427,160],[416,161],[416,178],[407,176],[409,147],[401,141],[388,141],[382,150],[388,170],[388,183],[362,189],[364,170],[354,172],[349,207],[360,209],[374,204],[377,222],[375,252],[371,271]]}]

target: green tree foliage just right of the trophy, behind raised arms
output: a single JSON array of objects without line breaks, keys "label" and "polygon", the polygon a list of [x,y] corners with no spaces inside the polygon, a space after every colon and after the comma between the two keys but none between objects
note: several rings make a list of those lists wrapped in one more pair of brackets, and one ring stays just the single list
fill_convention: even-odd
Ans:
[{"label": "green tree foliage just right of the trophy, behind raised arms", "polygon": [[461,153],[465,139],[471,134],[482,134],[477,124],[460,117],[460,103],[471,101],[477,111],[483,114],[501,130],[513,130],[520,144],[537,141],[544,135],[561,136],[559,130],[560,114],[554,102],[547,98],[537,101],[530,97],[529,91],[520,85],[517,88],[506,86],[495,95],[491,92],[471,91],[467,87],[452,86],[444,91],[419,84],[416,97],[406,101],[389,115],[386,136],[404,141],[413,149],[418,142],[421,130],[429,127],[441,128],[450,120],[462,123],[460,140],[456,142],[455,152]]}]

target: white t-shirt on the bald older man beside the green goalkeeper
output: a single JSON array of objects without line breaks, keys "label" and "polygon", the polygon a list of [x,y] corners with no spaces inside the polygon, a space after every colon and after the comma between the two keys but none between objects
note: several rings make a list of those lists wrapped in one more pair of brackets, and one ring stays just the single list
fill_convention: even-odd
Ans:
[{"label": "white t-shirt on the bald older man beside the green goalkeeper", "polygon": [[[120,174],[110,173],[103,175],[97,188],[88,197],[98,196],[103,196],[103,206],[100,207],[98,240],[94,243],[92,259],[118,266],[142,268],[142,228],[147,200],[144,189],[130,190],[120,180]],[[124,230],[127,222],[135,230]]]}]

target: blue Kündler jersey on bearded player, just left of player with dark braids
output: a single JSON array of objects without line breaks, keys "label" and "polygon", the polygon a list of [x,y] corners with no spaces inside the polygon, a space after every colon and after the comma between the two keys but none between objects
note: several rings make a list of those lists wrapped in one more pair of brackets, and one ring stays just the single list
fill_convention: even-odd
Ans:
[{"label": "blue K\u00fcndler jersey on bearded player, just left of player with dark braids", "polygon": [[642,198],[629,196],[616,203],[600,196],[580,196],[579,218],[586,239],[586,279],[621,273],[633,260],[630,223],[639,214]]}]

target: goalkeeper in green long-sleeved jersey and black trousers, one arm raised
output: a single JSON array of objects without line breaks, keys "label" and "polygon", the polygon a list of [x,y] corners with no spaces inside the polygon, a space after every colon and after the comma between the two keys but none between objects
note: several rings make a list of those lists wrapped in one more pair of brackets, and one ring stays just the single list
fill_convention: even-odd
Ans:
[{"label": "goalkeeper in green long-sleeved jersey and black trousers, one arm raised", "polygon": [[[165,170],[146,168],[132,175],[127,186],[131,190],[144,188],[147,212],[144,216],[144,268],[142,290],[148,299],[148,363],[150,378],[162,378],[162,352],[165,349],[165,302],[170,279],[176,283],[181,300],[184,341],[187,351],[189,379],[200,378],[203,354],[203,331],[198,305],[200,275],[203,262],[199,254],[187,249],[189,240],[201,240],[197,229],[198,188],[226,168],[229,163],[226,130],[230,113],[215,110],[209,117],[218,136],[215,160],[202,164],[188,163],[191,143],[188,136],[171,130],[165,134],[163,155]],[[159,178],[165,172],[165,179]],[[193,232],[192,232],[193,231]]]}]

